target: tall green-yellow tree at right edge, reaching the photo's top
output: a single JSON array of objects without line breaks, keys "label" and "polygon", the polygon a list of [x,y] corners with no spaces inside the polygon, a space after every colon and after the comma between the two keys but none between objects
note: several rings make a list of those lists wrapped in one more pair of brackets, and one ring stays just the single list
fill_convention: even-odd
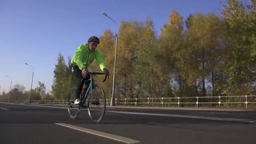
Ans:
[{"label": "tall green-yellow tree at right edge, reaching the photo's top", "polygon": [[245,94],[244,87],[250,86],[255,80],[255,0],[251,2],[252,5],[248,5],[249,11],[246,11],[243,3],[228,0],[222,12],[229,44],[229,61],[225,73],[229,77],[229,87],[234,94]]}]

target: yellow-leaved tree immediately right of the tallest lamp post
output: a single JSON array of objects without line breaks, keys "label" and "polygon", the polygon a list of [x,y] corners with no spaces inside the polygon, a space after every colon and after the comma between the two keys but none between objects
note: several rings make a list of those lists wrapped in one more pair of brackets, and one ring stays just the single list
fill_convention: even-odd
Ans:
[{"label": "yellow-leaved tree immediately right of the tallest lamp post", "polygon": [[135,85],[138,80],[134,77],[135,62],[138,58],[137,49],[140,45],[140,21],[122,21],[119,30],[119,55],[117,56],[117,96],[134,98]]}]

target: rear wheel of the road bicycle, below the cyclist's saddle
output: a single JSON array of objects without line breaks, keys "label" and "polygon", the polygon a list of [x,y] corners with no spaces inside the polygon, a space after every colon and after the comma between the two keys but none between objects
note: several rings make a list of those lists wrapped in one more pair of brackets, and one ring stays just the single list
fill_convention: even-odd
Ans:
[{"label": "rear wheel of the road bicycle, below the cyclist's saddle", "polygon": [[68,112],[69,116],[72,119],[77,118],[79,115],[79,112],[81,110],[80,104],[75,104],[74,101],[76,99],[75,92],[77,91],[77,88],[71,88],[68,101],[67,101],[67,106],[68,106]]}]

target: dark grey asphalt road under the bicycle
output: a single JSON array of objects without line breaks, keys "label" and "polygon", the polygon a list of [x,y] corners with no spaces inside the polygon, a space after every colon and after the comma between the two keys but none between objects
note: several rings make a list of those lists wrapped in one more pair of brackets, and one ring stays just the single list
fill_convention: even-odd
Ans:
[{"label": "dark grey asphalt road under the bicycle", "polygon": [[255,133],[253,111],[107,108],[96,124],[87,111],[0,103],[0,144],[256,144]]}]

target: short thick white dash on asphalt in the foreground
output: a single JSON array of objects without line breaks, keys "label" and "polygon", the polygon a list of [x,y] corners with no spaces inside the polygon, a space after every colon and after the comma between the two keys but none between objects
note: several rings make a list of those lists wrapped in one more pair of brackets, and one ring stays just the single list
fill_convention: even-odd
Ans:
[{"label": "short thick white dash on asphalt in the foreground", "polygon": [[96,131],[96,130],[89,129],[89,128],[83,128],[83,127],[80,127],[80,126],[77,126],[77,125],[70,125],[70,124],[67,124],[67,123],[55,123],[55,124],[56,125],[61,125],[61,126],[67,127],[67,128],[72,128],[72,129],[75,129],[77,131],[83,131],[85,133],[91,133],[93,135],[101,136],[101,137],[104,137],[104,138],[107,138],[107,139],[112,139],[112,140],[115,140],[115,141],[121,141],[121,142],[126,143],[126,144],[141,144],[141,141],[138,141],[138,140],[135,140],[135,139],[126,138],[126,137],[123,137],[123,136],[117,136],[117,135],[114,135],[114,134],[111,134],[111,133],[104,133],[102,131]]}]

